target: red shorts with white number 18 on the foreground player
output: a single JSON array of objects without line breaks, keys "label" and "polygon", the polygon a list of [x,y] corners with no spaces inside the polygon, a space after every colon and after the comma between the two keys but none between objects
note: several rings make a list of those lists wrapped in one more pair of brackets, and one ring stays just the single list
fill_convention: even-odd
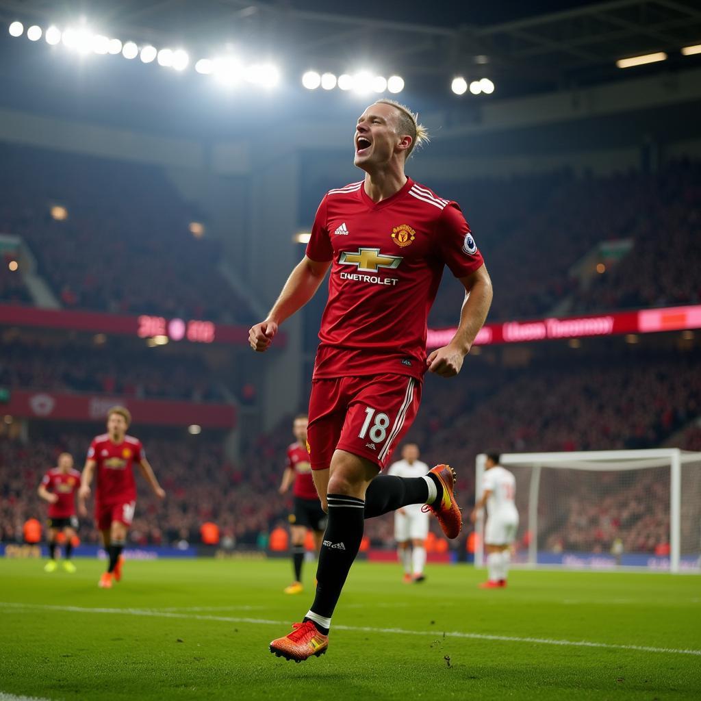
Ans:
[{"label": "red shorts with white number 18 on the foreground player", "polygon": [[421,383],[407,375],[313,380],[307,429],[312,470],[328,468],[336,449],[383,470],[414,422],[420,401]]}]

